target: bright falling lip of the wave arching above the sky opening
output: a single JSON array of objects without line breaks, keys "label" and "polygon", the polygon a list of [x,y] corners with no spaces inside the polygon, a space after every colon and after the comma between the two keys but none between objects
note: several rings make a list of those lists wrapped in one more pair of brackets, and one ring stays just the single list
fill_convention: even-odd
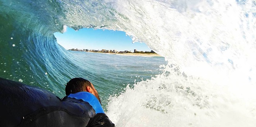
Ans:
[{"label": "bright falling lip of the wave arching above the sky opening", "polygon": [[61,5],[63,25],[122,30],[191,75],[256,82],[255,0],[63,0]]}]

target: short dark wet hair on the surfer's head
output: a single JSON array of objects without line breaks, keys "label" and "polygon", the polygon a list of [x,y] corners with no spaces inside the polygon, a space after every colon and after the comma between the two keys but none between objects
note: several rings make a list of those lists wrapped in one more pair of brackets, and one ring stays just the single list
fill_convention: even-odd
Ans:
[{"label": "short dark wet hair on the surfer's head", "polygon": [[70,95],[70,93],[77,93],[86,91],[86,87],[89,86],[92,88],[92,84],[90,81],[83,79],[83,78],[74,78],[67,82],[65,91],[66,95]]}]

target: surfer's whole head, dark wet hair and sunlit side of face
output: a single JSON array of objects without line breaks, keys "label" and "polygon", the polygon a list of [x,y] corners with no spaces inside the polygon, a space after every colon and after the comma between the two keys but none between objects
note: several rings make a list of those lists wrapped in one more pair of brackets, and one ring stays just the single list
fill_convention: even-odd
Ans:
[{"label": "surfer's whole head, dark wet hair and sunlit side of face", "polygon": [[99,102],[101,103],[97,90],[94,88],[92,83],[86,79],[83,79],[83,78],[71,79],[67,83],[65,90],[66,90],[67,96],[70,95],[70,93],[77,93],[82,91],[90,92],[95,97],[97,97]]}]

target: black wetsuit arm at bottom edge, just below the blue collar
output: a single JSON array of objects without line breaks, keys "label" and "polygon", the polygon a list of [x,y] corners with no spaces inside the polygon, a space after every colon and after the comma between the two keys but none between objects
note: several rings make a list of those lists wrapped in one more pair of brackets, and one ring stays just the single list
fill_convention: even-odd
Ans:
[{"label": "black wetsuit arm at bottom edge, just below the blue collar", "polygon": [[115,125],[105,113],[97,113],[90,119],[87,127],[115,127]]}]

